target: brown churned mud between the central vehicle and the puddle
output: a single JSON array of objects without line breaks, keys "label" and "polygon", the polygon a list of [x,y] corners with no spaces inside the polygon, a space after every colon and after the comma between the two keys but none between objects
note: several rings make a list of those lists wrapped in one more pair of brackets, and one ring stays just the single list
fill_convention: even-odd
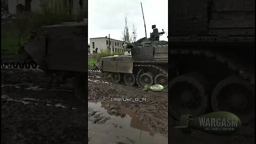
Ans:
[{"label": "brown churned mud between the central vehicle and the puddle", "polygon": [[[108,110],[110,115],[124,116],[121,106],[130,108],[135,115],[151,127],[155,133],[167,136],[168,132],[168,97],[167,91],[157,93],[144,91],[137,86],[125,86],[115,84],[109,77],[102,77],[99,72],[89,71],[89,102],[102,102],[102,107]],[[132,101],[111,101],[114,98],[124,98],[141,100],[142,102]],[[146,100],[145,100],[146,98]],[[114,110],[113,110],[114,109]]]}]

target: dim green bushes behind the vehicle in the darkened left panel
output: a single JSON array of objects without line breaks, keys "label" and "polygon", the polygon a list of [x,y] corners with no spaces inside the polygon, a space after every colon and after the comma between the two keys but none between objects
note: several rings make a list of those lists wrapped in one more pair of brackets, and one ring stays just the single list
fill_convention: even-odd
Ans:
[{"label": "dim green bushes behind the vehicle in the darkened left panel", "polygon": [[69,12],[67,1],[41,0],[37,11],[19,13],[15,18],[10,22],[2,22],[2,51],[17,53],[19,45],[30,36],[31,31],[36,30],[37,26],[82,21],[87,18],[87,10],[81,10],[78,15],[73,15]]}]

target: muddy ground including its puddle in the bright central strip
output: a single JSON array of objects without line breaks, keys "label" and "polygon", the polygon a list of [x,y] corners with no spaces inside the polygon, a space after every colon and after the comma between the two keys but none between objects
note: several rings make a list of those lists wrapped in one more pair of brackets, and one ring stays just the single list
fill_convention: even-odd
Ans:
[{"label": "muddy ground including its puddle in the bright central strip", "polygon": [[167,143],[167,91],[146,92],[112,83],[110,77],[94,71],[89,71],[88,87],[89,109],[100,108],[107,115],[99,129],[90,124],[89,117],[90,143],[101,143],[98,137],[109,143]]}]

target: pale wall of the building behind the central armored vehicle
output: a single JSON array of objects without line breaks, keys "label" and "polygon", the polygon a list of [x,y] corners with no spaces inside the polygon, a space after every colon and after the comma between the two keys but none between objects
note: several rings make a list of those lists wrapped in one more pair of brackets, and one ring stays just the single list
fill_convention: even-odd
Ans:
[{"label": "pale wall of the building behind the central armored vehicle", "polygon": [[[97,48],[98,48],[98,53],[100,52],[101,49],[108,50],[109,42],[107,44],[107,41],[109,41],[109,39],[105,37],[90,38],[90,53],[93,53],[93,51],[96,51]],[[124,48],[122,46],[123,41],[118,41],[116,39],[110,38],[110,42],[111,42],[111,45],[110,45],[111,53],[113,53],[113,48],[114,48],[114,52],[118,52],[118,51],[124,52]],[[94,47],[93,47],[93,43],[94,43]],[[117,45],[118,43],[119,43],[119,46]]]}]

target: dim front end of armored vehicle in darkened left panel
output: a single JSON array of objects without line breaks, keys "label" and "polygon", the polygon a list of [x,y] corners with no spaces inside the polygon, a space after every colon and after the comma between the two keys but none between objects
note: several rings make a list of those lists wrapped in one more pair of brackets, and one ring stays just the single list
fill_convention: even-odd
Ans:
[{"label": "dim front end of armored vehicle in darkened left panel", "polygon": [[87,22],[38,27],[20,47],[20,62],[13,65],[35,63],[46,76],[57,76],[60,83],[74,77],[76,98],[87,100],[87,28]]}]

